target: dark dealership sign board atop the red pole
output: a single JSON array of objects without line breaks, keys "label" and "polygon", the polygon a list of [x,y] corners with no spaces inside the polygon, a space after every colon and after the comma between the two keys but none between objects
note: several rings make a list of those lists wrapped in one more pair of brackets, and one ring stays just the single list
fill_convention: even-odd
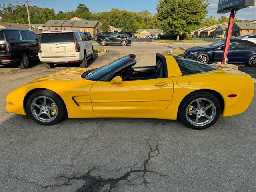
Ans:
[{"label": "dark dealership sign board atop the red pole", "polygon": [[238,10],[253,5],[254,0],[219,0],[217,13],[227,13],[232,9]]}]

